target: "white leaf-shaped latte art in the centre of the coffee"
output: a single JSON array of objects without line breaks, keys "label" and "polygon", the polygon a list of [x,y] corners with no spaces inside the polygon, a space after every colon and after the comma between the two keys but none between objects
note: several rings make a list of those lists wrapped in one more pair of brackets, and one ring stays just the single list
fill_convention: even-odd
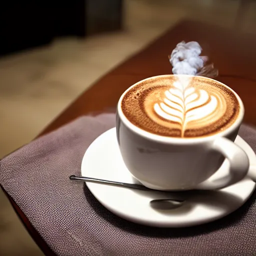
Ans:
[{"label": "white leaf-shaped latte art in the centre of the coffee", "polygon": [[219,119],[226,107],[221,94],[209,95],[203,89],[195,89],[184,79],[173,82],[172,88],[166,90],[164,95],[162,102],[154,104],[154,111],[159,117],[177,123],[181,137],[186,129],[199,127],[209,119]]}]

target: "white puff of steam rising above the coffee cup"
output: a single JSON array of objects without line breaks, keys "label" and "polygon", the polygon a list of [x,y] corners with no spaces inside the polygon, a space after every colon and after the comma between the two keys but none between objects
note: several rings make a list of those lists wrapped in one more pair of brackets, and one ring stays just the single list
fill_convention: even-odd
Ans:
[{"label": "white puff of steam rising above the coffee cup", "polygon": [[172,50],[169,61],[173,74],[192,74],[215,77],[218,74],[213,64],[206,64],[207,56],[200,56],[201,46],[196,41],[179,42]]}]

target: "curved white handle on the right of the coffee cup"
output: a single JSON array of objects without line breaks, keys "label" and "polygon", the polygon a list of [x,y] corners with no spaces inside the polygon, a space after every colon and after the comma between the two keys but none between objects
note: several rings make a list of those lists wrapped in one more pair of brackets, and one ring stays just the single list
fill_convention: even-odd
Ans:
[{"label": "curved white handle on the right of the coffee cup", "polygon": [[219,151],[229,160],[229,173],[212,181],[205,180],[198,184],[195,187],[196,189],[221,189],[240,181],[248,172],[248,156],[233,141],[225,137],[216,138],[213,142],[212,149]]}]

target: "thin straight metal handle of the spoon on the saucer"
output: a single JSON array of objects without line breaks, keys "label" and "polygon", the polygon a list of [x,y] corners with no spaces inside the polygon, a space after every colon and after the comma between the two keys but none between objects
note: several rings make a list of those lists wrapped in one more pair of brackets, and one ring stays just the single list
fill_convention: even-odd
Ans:
[{"label": "thin straight metal handle of the spoon on the saucer", "polygon": [[140,184],[124,183],[124,182],[111,181],[111,180],[100,179],[100,178],[91,178],[91,177],[82,177],[82,176],[71,175],[71,176],[69,176],[69,179],[77,180],[77,181],[89,181],[89,182],[95,182],[95,183],[104,183],[104,184],[110,184],[110,185],[119,185],[119,186],[140,189],[140,190],[153,190],[153,189],[147,188]]}]

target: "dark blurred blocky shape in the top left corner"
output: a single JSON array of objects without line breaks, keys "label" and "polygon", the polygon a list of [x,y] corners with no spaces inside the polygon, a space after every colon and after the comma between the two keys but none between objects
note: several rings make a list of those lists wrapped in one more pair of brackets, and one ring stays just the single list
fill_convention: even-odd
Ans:
[{"label": "dark blurred blocky shape in the top left corner", "polygon": [[0,55],[49,43],[56,36],[85,37],[120,29],[122,3],[9,1],[0,8]]}]

